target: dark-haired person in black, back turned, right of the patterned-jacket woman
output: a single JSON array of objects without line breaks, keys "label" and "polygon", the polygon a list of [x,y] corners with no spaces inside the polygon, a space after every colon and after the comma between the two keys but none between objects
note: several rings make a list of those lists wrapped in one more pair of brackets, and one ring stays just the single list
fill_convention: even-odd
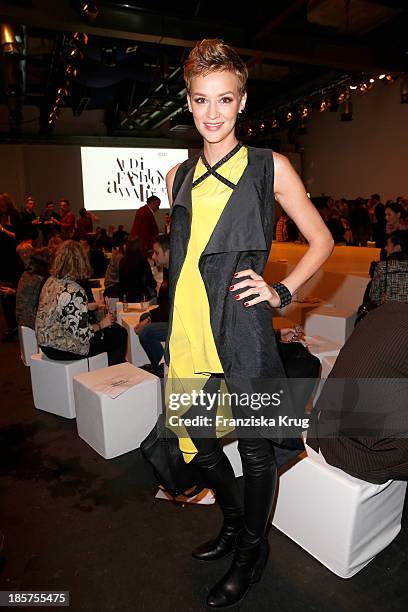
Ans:
[{"label": "dark-haired person in black, back turned, right of the patterned-jacket woman", "polygon": [[128,302],[149,301],[156,296],[156,281],[138,238],[126,242],[119,262],[119,297],[123,299],[124,295]]}]

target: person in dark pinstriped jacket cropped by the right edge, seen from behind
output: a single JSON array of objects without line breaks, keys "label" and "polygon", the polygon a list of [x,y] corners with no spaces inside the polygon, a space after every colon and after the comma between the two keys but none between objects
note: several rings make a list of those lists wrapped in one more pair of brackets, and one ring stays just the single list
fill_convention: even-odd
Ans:
[{"label": "person in dark pinstriped jacket cropped by the right edge, seen from behind", "polygon": [[307,444],[330,465],[382,484],[408,480],[408,303],[356,326],[316,403]]}]

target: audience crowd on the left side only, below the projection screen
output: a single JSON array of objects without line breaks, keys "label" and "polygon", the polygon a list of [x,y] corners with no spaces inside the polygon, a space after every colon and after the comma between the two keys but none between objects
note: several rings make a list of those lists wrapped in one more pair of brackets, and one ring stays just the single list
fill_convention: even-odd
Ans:
[{"label": "audience crowd on the left side only, below the projection screen", "polygon": [[[155,210],[159,204],[154,198]],[[106,352],[113,365],[125,361],[127,332],[115,322],[109,298],[158,302],[157,313],[144,318],[141,330],[150,325],[154,331],[153,322],[168,320],[167,277],[157,292],[152,274],[152,269],[155,276],[163,266],[167,269],[168,237],[163,234],[162,242],[157,235],[156,244],[151,232],[146,241],[144,235],[130,236],[123,225],[94,228],[98,221],[85,208],[76,217],[66,199],[59,202],[58,210],[48,201],[44,211],[37,213],[34,199],[27,197],[24,210],[18,212],[11,197],[0,193],[4,341],[14,340],[18,326],[25,326],[35,330],[39,347],[50,359],[82,359]],[[98,303],[92,293],[93,279],[101,278],[105,280],[104,299]],[[160,342],[157,349],[157,333],[151,341],[146,334],[143,346],[150,351],[153,344],[152,370],[162,375],[163,351]]]}]

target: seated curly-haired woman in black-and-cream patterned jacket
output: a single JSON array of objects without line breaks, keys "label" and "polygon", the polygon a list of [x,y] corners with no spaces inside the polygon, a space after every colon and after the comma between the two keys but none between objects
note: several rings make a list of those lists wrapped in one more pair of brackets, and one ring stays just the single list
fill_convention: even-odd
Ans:
[{"label": "seated curly-haired woman in black-and-cream patterned jacket", "polygon": [[125,361],[127,332],[111,315],[89,323],[88,298],[79,282],[90,276],[81,245],[62,243],[55,254],[37,310],[38,345],[50,359],[72,360],[108,353],[109,365]]}]

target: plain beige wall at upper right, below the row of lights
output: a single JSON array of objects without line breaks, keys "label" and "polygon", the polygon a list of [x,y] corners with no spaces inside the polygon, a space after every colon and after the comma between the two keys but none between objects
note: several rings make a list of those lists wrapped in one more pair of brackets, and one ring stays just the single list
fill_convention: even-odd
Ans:
[{"label": "plain beige wall at upper right, below the row of lights", "polygon": [[355,198],[379,193],[384,200],[408,194],[408,104],[400,104],[400,82],[377,82],[353,95],[353,121],[338,113],[313,113],[304,147],[303,179],[315,196]]}]

